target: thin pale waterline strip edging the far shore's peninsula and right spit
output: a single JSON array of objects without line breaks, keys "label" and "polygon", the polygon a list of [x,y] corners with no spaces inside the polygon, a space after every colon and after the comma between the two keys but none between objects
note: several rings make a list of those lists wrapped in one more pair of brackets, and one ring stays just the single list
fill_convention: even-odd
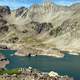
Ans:
[{"label": "thin pale waterline strip edging the far shore's peninsula and right spit", "polygon": [[19,52],[15,52],[14,55],[16,56],[21,56],[21,57],[25,57],[25,56],[50,56],[50,57],[55,57],[55,58],[63,58],[65,56],[65,53],[68,52],[67,54],[69,55],[73,55],[73,56],[79,56],[80,54],[77,52],[69,52],[69,51],[61,51],[62,54],[47,54],[47,53],[41,53],[41,54],[23,54],[23,53],[19,53]]}]

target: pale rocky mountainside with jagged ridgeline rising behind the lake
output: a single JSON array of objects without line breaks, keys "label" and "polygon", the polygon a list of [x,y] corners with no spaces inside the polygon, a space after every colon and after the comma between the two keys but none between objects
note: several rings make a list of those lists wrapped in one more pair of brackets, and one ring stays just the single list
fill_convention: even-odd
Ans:
[{"label": "pale rocky mountainside with jagged ridgeline rising behind the lake", "polygon": [[[34,4],[10,10],[0,6],[0,42],[80,51],[80,4]],[[77,45],[78,44],[78,45]]]}]

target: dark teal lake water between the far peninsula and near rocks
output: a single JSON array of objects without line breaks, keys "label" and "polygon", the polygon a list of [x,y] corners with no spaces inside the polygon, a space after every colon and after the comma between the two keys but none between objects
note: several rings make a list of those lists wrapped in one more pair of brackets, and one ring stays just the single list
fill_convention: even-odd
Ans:
[{"label": "dark teal lake water between the far peninsula and near rocks", "polygon": [[10,64],[7,69],[14,69],[19,67],[33,67],[43,72],[55,71],[60,75],[69,75],[75,80],[80,80],[80,56],[66,54],[64,58],[55,58],[48,56],[33,56],[33,57],[18,57],[11,56],[15,51],[0,50]]}]

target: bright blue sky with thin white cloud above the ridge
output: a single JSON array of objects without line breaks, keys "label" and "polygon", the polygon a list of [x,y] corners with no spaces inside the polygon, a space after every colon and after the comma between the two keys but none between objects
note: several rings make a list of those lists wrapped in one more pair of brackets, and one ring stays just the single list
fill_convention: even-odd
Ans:
[{"label": "bright blue sky with thin white cloud above the ridge", "polygon": [[[80,0],[52,0],[56,4],[71,5],[73,3],[80,3]],[[7,5],[11,9],[16,9],[21,6],[29,7],[32,4],[40,4],[43,0],[0,0],[0,5]]]}]

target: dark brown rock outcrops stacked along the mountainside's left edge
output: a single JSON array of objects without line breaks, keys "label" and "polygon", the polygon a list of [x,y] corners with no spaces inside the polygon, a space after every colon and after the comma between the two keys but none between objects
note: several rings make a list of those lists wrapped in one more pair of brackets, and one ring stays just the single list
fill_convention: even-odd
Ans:
[{"label": "dark brown rock outcrops stacked along the mountainside's left edge", "polygon": [[8,6],[0,6],[0,32],[7,32],[8,26],[7,20],[5,20],[5,16],[11,13],[10,8]]}]

